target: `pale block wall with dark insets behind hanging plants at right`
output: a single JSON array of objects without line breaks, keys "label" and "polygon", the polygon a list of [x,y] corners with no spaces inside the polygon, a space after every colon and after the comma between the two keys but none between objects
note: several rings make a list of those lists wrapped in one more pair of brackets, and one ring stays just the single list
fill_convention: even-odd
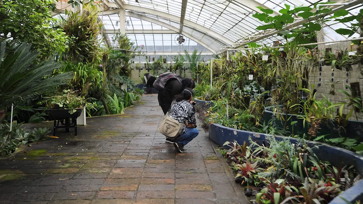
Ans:
[{"label": "pale block wall with dark insets behind hanging plants at right", "polygon": [[[339,50],[355,51],[356,46],[351,45],[351,41],[339,42],[335,44],[326,45],[326,48],[331,48],[332,53],[337,53]],[[309,76],[310,90],[317,89],[317,97],[322,98],[324,94],[331,102],[338,103],[347,101],[343,98],[346,96],[338,92],[337,89],[346,90],[351,94],[349,89],[346,89],[345,85],[349,85],[351,82],[359,82],[360,91],[363,90],[363,76],[360,73],[358,65],[352,65],[352,70],[347,72],[345,69],[332,69],[331,66],[319,66],[313,70]],[[362,93],[363,94],[363,93]],[[337,107],[339,108],[339,107]],[[352,106],[344,106],[343,114],[348,114],[352,109]],[[357,116],[357,117],[356,117]],[[363,121],[363,114],[353,113],[351,120]]]}]

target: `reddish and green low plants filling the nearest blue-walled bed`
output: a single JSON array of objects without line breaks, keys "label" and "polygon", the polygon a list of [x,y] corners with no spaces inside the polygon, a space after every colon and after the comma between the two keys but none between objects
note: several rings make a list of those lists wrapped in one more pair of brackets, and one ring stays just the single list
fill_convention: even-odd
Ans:
[{"label": "reddish and green low plants filling the nearest blue-walled bed", "polygon": [[314,153],[319,147],[306,140],[291,144],[271,134],[262,144],[248,142],[226,142],[229,149],[219,151],[253,203],[329,203],[361,179],[352,167],[319,160]]}]

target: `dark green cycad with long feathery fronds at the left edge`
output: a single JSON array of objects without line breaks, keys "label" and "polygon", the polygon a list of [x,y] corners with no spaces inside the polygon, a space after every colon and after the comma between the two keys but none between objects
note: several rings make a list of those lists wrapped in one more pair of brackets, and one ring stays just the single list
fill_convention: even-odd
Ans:
[{"label": "dark green cycad with long feathery fronds at the left edge", "polygon": [[6,49],[0,41],[0,109],[6,111],[12,103],[50,93],[72,78],[70,72],[51,76],[61,65],[52,59],[36,64],[37,56],[26,43]]}]

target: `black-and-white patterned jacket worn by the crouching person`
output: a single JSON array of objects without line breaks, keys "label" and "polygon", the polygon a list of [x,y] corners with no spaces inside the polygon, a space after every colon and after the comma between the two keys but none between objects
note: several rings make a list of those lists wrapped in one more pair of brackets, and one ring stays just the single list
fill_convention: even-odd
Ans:
[{"label": "black-and-white patterned jacket worn by the crouching person", "polygon": [[187,132],[185,121],[187,121],[189,124],[196,124],[195,108],[186,100],[182,100],[180,102],[175,101],[169,110],[169,117],[176,119],[180,123],[183,123],[180,134]]}]

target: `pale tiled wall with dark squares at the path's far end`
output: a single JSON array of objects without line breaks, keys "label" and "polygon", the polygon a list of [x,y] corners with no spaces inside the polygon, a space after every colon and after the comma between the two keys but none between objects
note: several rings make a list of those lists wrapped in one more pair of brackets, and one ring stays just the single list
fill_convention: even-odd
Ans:
[{"label": "pale tiled wall with dark squares at the path's far end", "polygon": [[[169,72],[170,65],[173,65],[174,63],[164,63],[163,69],[166,70],[166,72]],[[150,72],[154,75],[154,70],[151,70],[151,68],[147,68],[146,63],[135,63],[131,65],[132,73],[131,78],[134,80],[135,83],[141,84],[143,83],[144,74],[147,72]],[[184,64],[183,70],[176,70],[174,73],[180,74],[181,77],[191,78],[192,74],[190,70],[187,68],[186,64]],[[159,71],[159,74],[162,74],[162,71]]]}]

